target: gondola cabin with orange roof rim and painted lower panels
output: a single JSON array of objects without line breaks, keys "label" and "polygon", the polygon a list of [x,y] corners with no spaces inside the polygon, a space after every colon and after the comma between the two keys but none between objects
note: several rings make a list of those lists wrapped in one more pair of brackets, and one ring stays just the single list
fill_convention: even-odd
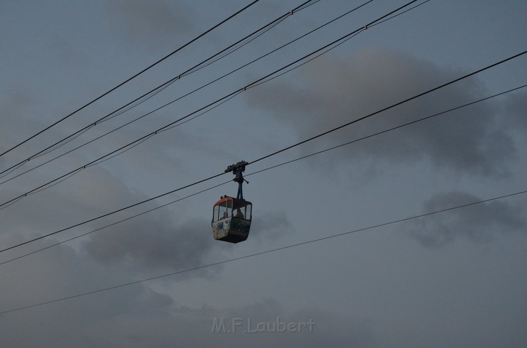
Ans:
[{"label": "gondola cabin with orange roof rim and painted lower panels", "polygon": [[252,203],[245,199],[221,197],[214,204],[212,235],[214,239],[239,243],[249,237]]}]

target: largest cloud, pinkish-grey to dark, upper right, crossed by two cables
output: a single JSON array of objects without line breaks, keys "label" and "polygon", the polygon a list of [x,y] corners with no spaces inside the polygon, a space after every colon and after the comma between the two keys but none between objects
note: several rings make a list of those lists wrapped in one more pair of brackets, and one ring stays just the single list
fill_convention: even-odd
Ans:
[{"label": "largest cloud, pinkish-grey to dark, upper right, crossed by two cables", "polygon": [[[403,53],[370,48],[347,58],[328,55],[307,65],[298,79],[277,79],[249,95],[294,126],[300,139],[368,115],[466,74]],[[325,137],[346,142],[417,118],[433,115],[489,95],[475,78],[467,79],[373,116]],[[508,127],[500,128],[496,106],[485,103],[399,129],[346,147],[347,156],[366,162],[428,160],[437,169],[481,176],[503,176],[515,159]]]}]

